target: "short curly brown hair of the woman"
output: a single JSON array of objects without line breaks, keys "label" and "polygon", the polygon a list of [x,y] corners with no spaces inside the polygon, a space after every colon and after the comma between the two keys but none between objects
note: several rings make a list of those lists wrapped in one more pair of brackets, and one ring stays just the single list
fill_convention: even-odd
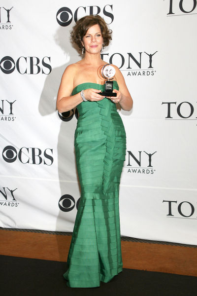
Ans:
[{"label": "short curly brown hair of the woman", "polygon": [[86,15],[79,19],[70,33],[72,41],[81,50],[83,45],[82,38],[86,35],[88,29],[94,25],[99,25],[103,38],[103,47],[108,46],[111,40],[112,31],[108,29],[107,24],[99,15]]}]

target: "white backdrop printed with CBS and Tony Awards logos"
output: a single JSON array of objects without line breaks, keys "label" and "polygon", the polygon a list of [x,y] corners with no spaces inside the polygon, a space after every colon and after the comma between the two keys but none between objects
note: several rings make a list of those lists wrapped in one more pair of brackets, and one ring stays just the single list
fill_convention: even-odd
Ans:
[{"label": "white backdrop printed with CBS and Tony Awards logos", "polygon": [[[197,1],[0,1],[0,226],[72,231],[80,198],[77,111],[56,111],[61,76],[80,59],[69,32],[99,14],[102,52],[133,98],[121,234],[197,244]],[[93,164],[94,165],[94,164]]]}]

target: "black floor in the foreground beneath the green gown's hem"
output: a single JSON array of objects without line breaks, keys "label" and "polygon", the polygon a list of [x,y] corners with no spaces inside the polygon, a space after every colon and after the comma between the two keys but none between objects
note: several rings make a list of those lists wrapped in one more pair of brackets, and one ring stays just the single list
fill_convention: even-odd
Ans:
[{"label": "black floor in the foreground beneath the green gown's hem", "polygon": [[197,277],[123,269],[98,288],[68,288],[66,262],[0,256],[0,296],[195,296]]}]

